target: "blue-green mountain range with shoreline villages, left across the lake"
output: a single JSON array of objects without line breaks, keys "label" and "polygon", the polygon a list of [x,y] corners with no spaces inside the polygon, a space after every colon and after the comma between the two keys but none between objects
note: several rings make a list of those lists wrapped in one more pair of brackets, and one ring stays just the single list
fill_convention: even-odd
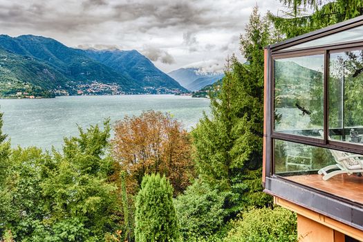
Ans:
[{"label": "blue-green mountain range with shoreline villages, left across the lake", "polygon": [[0,35],[0,97],[184,91],[137,50],[82,50],[47,37]]}]

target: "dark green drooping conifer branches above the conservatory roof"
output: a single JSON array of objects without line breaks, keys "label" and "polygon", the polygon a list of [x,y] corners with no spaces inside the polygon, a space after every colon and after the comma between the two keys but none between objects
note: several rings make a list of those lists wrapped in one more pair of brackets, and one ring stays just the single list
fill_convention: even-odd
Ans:
[{"label": "dark green drooping conifer branches above the conservatory roof", "polygon": [[[275,28],[287,38],[363,15],[361,0],[280,0],[288,11],[282,17],[269,14]],[[307,14],[306,10],[313,10]]]}]

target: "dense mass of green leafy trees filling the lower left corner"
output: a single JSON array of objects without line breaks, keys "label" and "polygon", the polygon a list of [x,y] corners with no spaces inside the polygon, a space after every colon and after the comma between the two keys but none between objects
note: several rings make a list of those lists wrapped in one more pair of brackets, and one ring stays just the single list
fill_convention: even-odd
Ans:
[{"label": "dense mass of green leafy trees filling the lower left corner", "polygon": [[103,241],[120,228],[111,160],[105,155],[109,122],[66,138],[63,152],[1,149],[0,235],[16,241]]}]

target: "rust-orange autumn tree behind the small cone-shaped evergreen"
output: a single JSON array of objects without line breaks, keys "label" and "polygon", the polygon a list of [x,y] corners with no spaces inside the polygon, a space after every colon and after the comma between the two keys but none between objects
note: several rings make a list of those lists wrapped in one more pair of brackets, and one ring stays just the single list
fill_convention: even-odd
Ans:
[{"label": "rust-orange autumn tree behind the small cone-shaped evergreen", "polygon": [[169,114],[148,111],[125,117],[115,125],[113,156],[127,171],[129,192],[135,194],[145,174],[164,174],[175,194],[183,192],[194,176],[191,142],[180,122]]}]

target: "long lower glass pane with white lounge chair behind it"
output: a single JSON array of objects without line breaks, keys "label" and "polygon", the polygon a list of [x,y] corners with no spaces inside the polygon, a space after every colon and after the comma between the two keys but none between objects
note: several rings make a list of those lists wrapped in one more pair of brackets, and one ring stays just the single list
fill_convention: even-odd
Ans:
[{"label": "long lower glass pane with white lounge chair behind it", "polygon": [[363,204],[363,156],[274,140],[274,164],[279,176]]}]

